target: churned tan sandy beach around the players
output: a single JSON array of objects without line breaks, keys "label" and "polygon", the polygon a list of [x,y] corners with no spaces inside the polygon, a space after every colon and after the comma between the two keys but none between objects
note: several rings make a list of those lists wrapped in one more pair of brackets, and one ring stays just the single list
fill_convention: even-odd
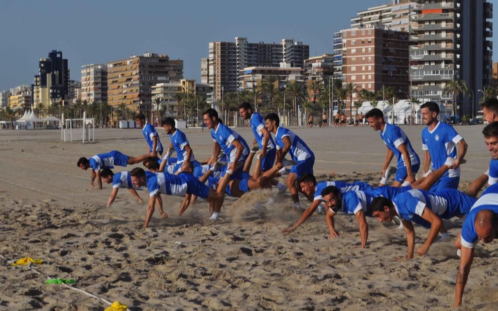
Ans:
[{"label": "churned tan sandy beach around the players", "polygon": [[[423,159],[421,126],[404,126]],[[483,126],[458,126],[469,145],[460,189],[486,171],[489,153]],[[248,142],[249,128],[236,129]],[[378,132],[369,127],[293,128],[314,151],[319,180],[367,181],[375,185],[385,157]],[[169,143],[158,129],[163,144]],[[208,158],[208,130],[185,131],[197,159]],[[341,236],[331,240],[323,214],[313,215],[288,236],[282,228],[301,211],[287,194],[256,191],[227,199],[221,220],[207,220],[200,201],[177,215],[181,198],[167,197],[161,219],[141,229],[146,203],[125,190],[106,208],[112,186],[90,188],[81,156],[120,150],[138,156],[148,151],[139,129],[96,129],[95,143],[64,143],[60,132],[0,131],[0,255],[32,257],[37,270],[76,280],[76,287],[133,311],[155,310],[449,310],[458,257],[453,246],[461,220],[445,221],[452,236],[436,242],[425,257],[395,262],[406,254],[404,230],[368,218],[368,248],[360,248],[354,216],[338,214]],[[393,160],[395,161],[395,160]],[[395,165],[394,162],[391,165]],[[127,168],[128,169],[128,168]],[[118,168],[116,171],[124,170]],[[392,181],[392,178],[391,178]],[[139,192],[142,199],[146,191]],[[273,204],[268,204],[272,199]],[[301,198],[303,205],[308,202]],[[416,242],[428,230],[415,226]],[[417,247],[417,245],[415,247]],[[496,242],[479,243],[462,310],[497,310]],[[46,277],[0,259],[0,311],[103,311],[94,298],[43,284]]]}]

